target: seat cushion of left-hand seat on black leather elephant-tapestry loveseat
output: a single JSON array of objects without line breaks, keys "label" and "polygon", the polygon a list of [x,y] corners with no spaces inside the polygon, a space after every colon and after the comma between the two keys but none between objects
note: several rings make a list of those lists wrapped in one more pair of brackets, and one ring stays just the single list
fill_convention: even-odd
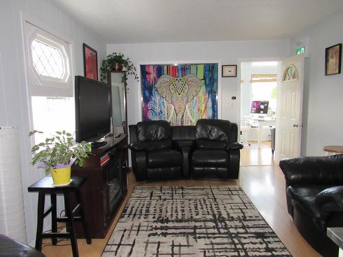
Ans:
[{"label": "seat cushion of left-hand seat on black leather elephant-tapestry loveseat", "polygon": [[147,152],[148,168],[182,166],[182,154],[174,149],[162,149]]}]

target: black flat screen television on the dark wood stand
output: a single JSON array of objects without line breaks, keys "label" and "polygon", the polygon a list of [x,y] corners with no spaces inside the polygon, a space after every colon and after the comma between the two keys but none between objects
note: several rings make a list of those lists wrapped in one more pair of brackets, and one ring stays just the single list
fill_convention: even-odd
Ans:
[{"label": "black flat screen television on the dark wood stand", "polygon": [[106,145],[100,138],[110,133],[110,86],[104,82],[75,76],[76,142]]}]

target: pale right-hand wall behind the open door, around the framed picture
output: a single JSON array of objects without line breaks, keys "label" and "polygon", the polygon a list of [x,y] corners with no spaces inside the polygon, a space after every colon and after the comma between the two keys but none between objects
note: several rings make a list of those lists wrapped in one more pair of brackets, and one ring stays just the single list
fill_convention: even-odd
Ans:
[{"label": "pale right-hand wall behind the open door, around the framed picture", "polygon": [[324,75],[325,48],[343,43],[343,12],[306,29],[291,40],[309,38],[309,58],[305,58],[302,155],[322,156],[324,145],[343,145],[343,74]]}]

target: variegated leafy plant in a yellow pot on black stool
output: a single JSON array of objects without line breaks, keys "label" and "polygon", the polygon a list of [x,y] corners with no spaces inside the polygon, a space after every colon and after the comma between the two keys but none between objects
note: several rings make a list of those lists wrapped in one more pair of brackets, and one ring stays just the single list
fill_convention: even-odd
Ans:
[{"label": "variegated leafy plant in a yellow pot on black stool", "polygon": [[[43,132],[34,130],[29,136],[36,133]],[[91,145],[86,142],[73,144],[72,135],[63,130],[32,147],[31,164],[51,171],[54,186],[64,186],[71,182],[71,165],[75,163],[82,167],[90,153]]]}]

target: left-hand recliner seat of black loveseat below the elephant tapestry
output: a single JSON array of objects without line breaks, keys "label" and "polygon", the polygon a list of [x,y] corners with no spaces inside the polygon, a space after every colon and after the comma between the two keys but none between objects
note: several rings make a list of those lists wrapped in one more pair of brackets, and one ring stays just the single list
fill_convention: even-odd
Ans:
[{"label": "left-hand recliner seat of black loveseat below the elephant tapestry", "polygon": [[174,148],[167,121],[130,125],[132,170],[137,181],[182,177],[182,153]]}]

